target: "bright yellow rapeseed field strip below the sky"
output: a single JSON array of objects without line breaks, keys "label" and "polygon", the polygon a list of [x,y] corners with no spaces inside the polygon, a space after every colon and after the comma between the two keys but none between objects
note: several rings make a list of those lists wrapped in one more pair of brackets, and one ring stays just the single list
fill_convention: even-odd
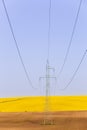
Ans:
[{"label": "bright yellow rapeseed field strip below the sky", "polygon": [[[0,112],[43,112],[44,110],[44,96],[0,98]],[[51,96],[49,110],[87,110],[87,96]]]}]

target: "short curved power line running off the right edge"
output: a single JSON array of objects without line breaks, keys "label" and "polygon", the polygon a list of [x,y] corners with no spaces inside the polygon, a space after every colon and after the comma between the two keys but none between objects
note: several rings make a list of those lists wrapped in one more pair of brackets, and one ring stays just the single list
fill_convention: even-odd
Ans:
[{"label": "short curved power line running off the right edge", "polygon": [[83,56],[82,56],[82,58],[81,58],[81,61],[80,61],[79,65],[78,65],[78,67],[76,68],[76,70],[75,70],[75,72],[74,72],[72,78],[70,79],[70,81],[68,82],[68,84],[66,85],[66,87],[63,88],[63,89],[60,89],[60,90],[65,90],[65,89],[67,89],[67,88],[70,86],[70,84],[73,82],[73,80],[74,80],[74,78],[75,78],[75,76],[76,76],[76,74],[77,74],[77,72],[78,72],[78,70],[79,70],[79,68],[80,68],[80,66],[81,66],[81,64],[82,64],[82,62],[83,62],[85,56],[86,56],[86,54],[87,54],[87,50],[84,52],[84,54],[83,54]]}]

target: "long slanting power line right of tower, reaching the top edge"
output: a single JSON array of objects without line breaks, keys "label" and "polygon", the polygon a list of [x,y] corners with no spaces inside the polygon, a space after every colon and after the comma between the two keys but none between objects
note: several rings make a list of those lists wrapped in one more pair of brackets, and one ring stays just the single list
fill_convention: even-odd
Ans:
[{"label": "long slanting power line right of tower, reaching the top edge", "polygon": [[61,67],[61,69],[60,69],[60,71],[59,71],[58,78],[60,77],[60,75],[61,75],[61,73],[62,73],[62,71],[63,71],[63,69],[64,69],[65,63],[66,63],[67,58],[68,58],[68,55],[69,55],[70,47],[71,47],[71,44],[72,44],[72,41],[73,41],[73,37],[74,37],[76,25],[77,25],[78,18],[79,18],[79,13],[80,13],[82,1],[83,1],[83,0],[80,0],[80,3],[79,3],[79,7],[78,7],[77,15],[76,15],[76,18],[75,18],[73,30],[72,30],[72,33],[71,33],[69,45],[68,45],[68,48],[67,48],[67,51],[66,51],[66,55],[65,55],[65,58],[64,58],[64,62],[63,62],[62,67]]}]

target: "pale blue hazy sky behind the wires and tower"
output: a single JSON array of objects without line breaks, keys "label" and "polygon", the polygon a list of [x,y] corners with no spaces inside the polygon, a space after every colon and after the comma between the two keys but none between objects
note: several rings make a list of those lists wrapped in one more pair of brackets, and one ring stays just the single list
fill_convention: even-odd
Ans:
[{"label": "pale blue hazy sky behind the wires and tower", "polygon": [[[80,0],[52,0],[50,66],[58,75],[71,37]],[[49,0],[5,0],[18,46],[37,89],[26,79],[0,0],[0,97],[45,95],[48,47]],[[64,70],[51,95],[87,95],[87,55],[70,86],[61,91],[71,79],[84,51],[87,49],[87,1],[83,0],[78,23]]]}]

